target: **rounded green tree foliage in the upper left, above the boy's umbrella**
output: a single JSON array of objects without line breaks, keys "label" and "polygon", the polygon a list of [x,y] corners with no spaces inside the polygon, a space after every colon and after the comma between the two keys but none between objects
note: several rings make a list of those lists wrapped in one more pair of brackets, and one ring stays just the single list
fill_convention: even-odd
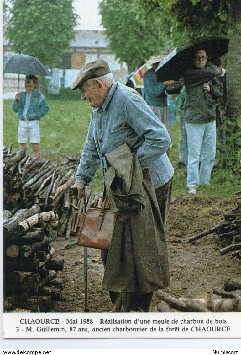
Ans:
[{"label": "rounded green tree foliage in the upper left, above the boy's umbrella", "polygon": [[12,0],[6,36],[13,50],[32,55],[43,64],[55,66],[61,51],[68,49],[73,38],[77,15],[72,0]]}]

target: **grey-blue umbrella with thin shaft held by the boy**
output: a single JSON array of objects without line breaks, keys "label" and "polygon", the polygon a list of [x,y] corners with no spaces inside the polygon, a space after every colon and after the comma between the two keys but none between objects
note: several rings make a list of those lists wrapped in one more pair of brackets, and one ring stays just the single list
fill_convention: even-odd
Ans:
[{"label": "grey-blue umbrella with thin shaft held by the boy", "polygon": [[19,53],[8,54],[3,57],[3,72],[18,74],[18,88],[19,74],[49,75],[47,68],[37,58],[21,54],[20,50]]}]

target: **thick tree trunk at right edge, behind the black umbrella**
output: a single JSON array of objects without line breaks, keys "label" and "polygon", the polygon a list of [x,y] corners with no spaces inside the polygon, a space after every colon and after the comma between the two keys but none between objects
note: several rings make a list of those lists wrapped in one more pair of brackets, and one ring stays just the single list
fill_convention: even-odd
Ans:
[{"label": "thick tree trunk at right edge, behind the black umbrella", "polygon": [[241,1],[230,0],[229,2],[227,97],[229,119],[235,121],[241,116]]}]

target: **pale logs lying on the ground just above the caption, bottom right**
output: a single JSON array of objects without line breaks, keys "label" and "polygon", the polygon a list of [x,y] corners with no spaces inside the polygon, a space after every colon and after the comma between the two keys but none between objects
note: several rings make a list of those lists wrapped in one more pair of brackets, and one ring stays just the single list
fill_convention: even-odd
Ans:
[{"label": "pale logs lying on the ground just above the caption, bottom right", "polygon": [[158,290],[157,298],[157,312],[241,312],[241,279],[225,281],[223,291],[213,290],[208,297],[175,298]]}]

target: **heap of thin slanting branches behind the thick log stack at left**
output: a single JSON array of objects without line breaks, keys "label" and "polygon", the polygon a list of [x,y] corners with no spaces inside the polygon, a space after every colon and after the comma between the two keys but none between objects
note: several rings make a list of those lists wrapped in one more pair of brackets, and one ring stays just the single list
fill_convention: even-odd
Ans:
[{"label": "heap of thin slanting branches behind the thick log stack at left", "polygon": [[50,161],[37,161],[25,151],[4,154],[4,209],[16,212],[38,204],[41,211],[57,211],[65,192],[73,185],[74,173],[54,169]]}]

